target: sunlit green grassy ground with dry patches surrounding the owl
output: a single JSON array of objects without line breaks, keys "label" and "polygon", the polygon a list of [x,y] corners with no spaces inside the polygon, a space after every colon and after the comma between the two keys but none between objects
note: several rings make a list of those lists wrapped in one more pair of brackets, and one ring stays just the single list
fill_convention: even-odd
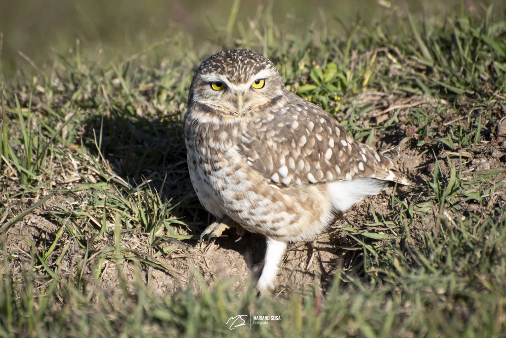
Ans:
[{"label": "sunlit green grassy ground with dry patches surrounding the owl", "polygon": [[[504,334],[506,165],[491,152],[506,148],[495,135],[506,23],[492,8],[445,20],[407,13],[342,36],[255,20],[237,21],[238,36],[218,32],[217,44],[177,35],[112,62],[76,46],[4,79],[1,335]],[[386,211],[370,203],[359,224],[332,229],[349,242],[328,286],[257,298],[232,279],[208,286],[198,261],[207,213],[188,179],[181,120],[193,71],[233,47],[265,51],[289,90],[397,156],[413,181],[381,197]],[[181,257],[196,268],[179,269]],[[157,271],[182,286],[155,294]],[[225,324],[249,313],[281,320]]]}]

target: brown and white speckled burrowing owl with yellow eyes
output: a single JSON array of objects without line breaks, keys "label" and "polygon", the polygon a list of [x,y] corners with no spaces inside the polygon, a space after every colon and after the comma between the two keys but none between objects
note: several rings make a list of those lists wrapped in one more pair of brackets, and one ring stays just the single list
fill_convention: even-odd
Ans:
[{"label": "brown and white speckled burrowing owl with yellow eyes", "polygon": [[311,239],[389,182],[408,184],[390,159],[288,92],[274,65],[249,50],[220,52],[198,67],[184,133],[191,182],[218,218],[200,238],[231,226],[265,235],[261,292],[274,287],[288,242]]}]

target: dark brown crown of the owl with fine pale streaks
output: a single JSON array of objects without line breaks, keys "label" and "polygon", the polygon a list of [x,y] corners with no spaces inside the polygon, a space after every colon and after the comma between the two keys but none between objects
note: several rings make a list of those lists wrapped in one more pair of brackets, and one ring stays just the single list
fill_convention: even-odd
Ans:
[{"label": "dark brown crown of the owl with fine pale streaks", "polygon": [[226,76],[231,82],[244,83],[251,75],[271,67],[274,67],[272,62],[257,52],[233,49],[208,57],[200,64],[195,75],[217,72]]}]

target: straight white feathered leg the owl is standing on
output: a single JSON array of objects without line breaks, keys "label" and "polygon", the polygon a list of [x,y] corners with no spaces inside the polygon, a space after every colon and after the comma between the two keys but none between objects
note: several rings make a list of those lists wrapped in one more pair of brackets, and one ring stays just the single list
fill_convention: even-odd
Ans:
[{"label": "straight white feathered leg the owl is standing on", "polygon": [[257,282],[257,289],[260,293],[274,289],[274,282],[279,271],[279,263],[281,263],[281,259],[283,258],[286,245],[286,242],[267,238],[264,269]]}]

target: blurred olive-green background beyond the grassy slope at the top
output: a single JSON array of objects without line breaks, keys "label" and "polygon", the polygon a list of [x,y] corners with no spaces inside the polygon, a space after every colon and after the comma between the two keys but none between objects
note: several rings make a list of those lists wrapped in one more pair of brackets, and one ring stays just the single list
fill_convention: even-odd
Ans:
[{"label": "blurred olive-green background beyond the grassy slope at the top", "polygon": [[495,19],[503,20],[504,0],[1,0],[0,71],[12,73],[27,66],[27,59],[35,64],[49,61],[55,51],[69,53],[77,39],[81,50],[101,48],[109,56],[126,55],[181,32],[196,46],[219,41],[227,33],[233,39],[239,23],[248,29],[248,18],[258,22],[265,17],[290,32],[315,23],[339,33],[358,19],[405,16],[406,7],[430,18],[462,11],[480,15],[490,4],[495,5]]}]

